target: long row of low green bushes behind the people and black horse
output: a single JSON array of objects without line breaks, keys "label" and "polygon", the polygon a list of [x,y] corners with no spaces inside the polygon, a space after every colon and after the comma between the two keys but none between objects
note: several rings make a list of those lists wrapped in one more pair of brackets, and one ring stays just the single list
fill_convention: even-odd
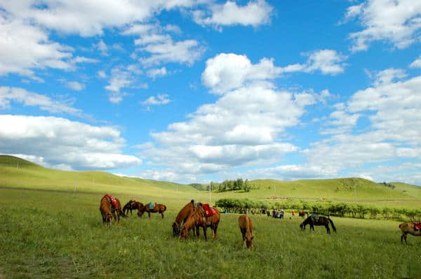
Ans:
[{"label": "long row of low green bushes behind the people and black horse", "polygon": [[248,208],[257,210],[284,209],[304,210],[310,213],[321,213],[340,217],[373,218],[373,219],[396,219],[396,220],[421,220],[420,209],[408,208],[379,208],[357,203],[333,203],[333,202],[308,202],[308,201],[251,201],[250,199],[220,199],[215,206],[227,209],[229,212],[243,212]]}]

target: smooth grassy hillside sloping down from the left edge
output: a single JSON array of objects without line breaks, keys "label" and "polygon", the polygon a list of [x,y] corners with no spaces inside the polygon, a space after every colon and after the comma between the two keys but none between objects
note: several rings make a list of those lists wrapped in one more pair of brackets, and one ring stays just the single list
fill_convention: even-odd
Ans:
[{"label": "smooth grassy hillside sloping down from the left edge", "polygon": [[47,169],[18,157],[0,155],[0,187],[114,192],[150,196],[196,194],[188,185],[116,176],[103,171],[59,171]]}]

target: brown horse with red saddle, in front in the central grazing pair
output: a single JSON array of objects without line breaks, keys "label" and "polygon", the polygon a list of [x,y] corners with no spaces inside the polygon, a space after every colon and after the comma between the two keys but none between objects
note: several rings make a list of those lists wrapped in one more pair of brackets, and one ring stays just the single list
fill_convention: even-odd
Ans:
[{"label": "brown horse with red saddle, in front in the central grazing pair", "polygon": [[202,227],[205,240],[208,241],[208,237],[206,236],[206,229],[207,227],[210,227],[213,232],[213,240],[216,240],[216,231],[218,231],[218,224],[220,222],[220,212],[217,208],[213,207],[213,209],[215,210],[215,213],[210,217],[206,217],[202,204],[198,203],[193,213],[189,215],[185,224],[182,225],[180,239],[187,238],[190,229],[193,227],[196,227],[196,236],[199,239],[199,227]]}]

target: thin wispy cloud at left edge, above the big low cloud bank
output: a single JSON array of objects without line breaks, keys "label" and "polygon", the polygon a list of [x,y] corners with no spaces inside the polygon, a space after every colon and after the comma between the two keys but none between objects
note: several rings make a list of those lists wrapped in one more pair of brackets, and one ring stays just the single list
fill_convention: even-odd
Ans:
[{"label": "thin wispy cloud at left edge, above the big low cloud bank", "polygon": [[49,113],[69,113],[83,117],[83,113],[78,108],[73,108],[67,103],[55,101],[48,96],[29,92],[18,87],[0,87],[0,108],[11,108],[11,101],[22,103],[23,106],[36,106]]}]

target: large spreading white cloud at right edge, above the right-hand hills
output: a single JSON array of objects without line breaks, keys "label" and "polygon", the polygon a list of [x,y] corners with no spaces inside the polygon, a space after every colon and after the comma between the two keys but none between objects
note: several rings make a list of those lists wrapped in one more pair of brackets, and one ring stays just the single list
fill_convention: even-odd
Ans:
[{"label": "large spreading white cloud at right edge, above the right-hand hills", "polygon": [[[398,167],[396,158],[399,162],[421,159],[421,76],[402,80],[403,72],[387,69],[376,77],[373,87],[355,92],[330,115],[330,126],[343,131],[312,143],[303,154],[309,164],[330,166],[338,172],[354,168],[354,173],[361,173],[363,166],[372,164],[364,173],[377,180],[389,177],[382,164],[394,162],[395,178],[413,181],[415,177],[408,173],[412,166]],[[360,118],[368,120],[368,127],[351,132]]]}]

